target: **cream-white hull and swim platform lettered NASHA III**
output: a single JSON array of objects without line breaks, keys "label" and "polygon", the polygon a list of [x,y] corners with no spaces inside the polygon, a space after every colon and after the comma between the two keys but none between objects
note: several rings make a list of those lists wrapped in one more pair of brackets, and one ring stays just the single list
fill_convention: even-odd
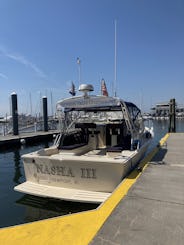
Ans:
[{"label": "cream-white hull and swim platform lettered NASHA III", "polygon": [[92,151],[81,156],[63,153],[40,156],[33,152],[23,156],[27,181],[15,190],[62,200],[101,203],[135,167],[147,146],[148,143],[139,150],[112,155]]}]

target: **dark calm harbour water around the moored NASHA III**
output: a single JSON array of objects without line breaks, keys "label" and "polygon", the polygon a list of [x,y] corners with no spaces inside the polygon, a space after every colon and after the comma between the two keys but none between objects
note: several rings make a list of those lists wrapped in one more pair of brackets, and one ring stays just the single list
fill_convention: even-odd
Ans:
[{"label": "dark calm harbour water around the moored NASHA III", "polygon": [[[150,149],[167,133],[168,121],[154,121],[153,126],[155,137]],[[177,120],[176,127],[177,132],[184,132],[184,120]],[[21,155],[48,147],[48,144],[52,142],[0,152],[0,227],[90,210],[98,206],[39,198],[13,190],[15,185],[25,181]]]}]

